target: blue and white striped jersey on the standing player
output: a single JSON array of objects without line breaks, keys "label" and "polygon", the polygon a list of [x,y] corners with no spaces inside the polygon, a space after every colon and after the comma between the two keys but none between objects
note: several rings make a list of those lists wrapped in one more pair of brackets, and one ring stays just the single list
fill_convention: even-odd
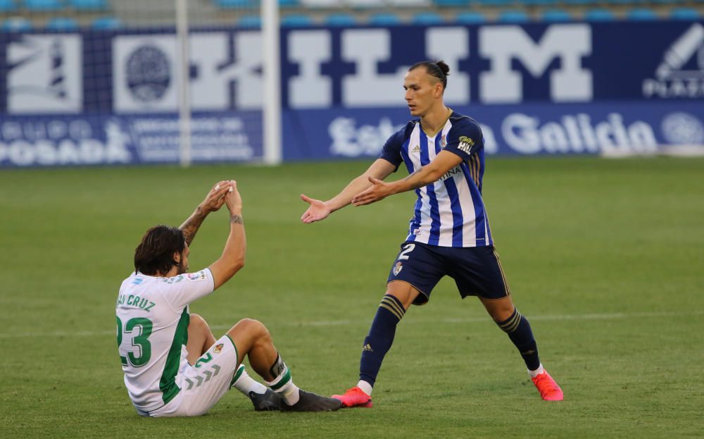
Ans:
[{"label": "blue and white striped jersey on the standing player", "polygon": [[451,114],[433,137],[412,120],[384,144],[379,158],[396,166],[406,163],[408,173],[425,166],[445,149],[463,161],[440,180],[415,190],[415,214],[406,240],[440,247],[494,245],[482,201],[484,137],[476,120]]}]

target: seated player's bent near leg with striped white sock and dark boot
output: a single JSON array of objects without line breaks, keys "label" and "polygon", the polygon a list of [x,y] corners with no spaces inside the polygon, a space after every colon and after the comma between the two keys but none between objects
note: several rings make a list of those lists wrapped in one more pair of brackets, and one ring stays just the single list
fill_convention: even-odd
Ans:
[{"label": "seated player's bent near leg with striped white sock and dark boot", "polygon": [[298,388],[291,379],[291,372],[273,345],[269,330],[259,321],[243,319],[227,335],[237,347],[237,361],[245,355],[252,369],[274,390],[284,404],[281,409],[293,412],[327,412],[337,410],[341,404],[333,398],[321,397]]}]

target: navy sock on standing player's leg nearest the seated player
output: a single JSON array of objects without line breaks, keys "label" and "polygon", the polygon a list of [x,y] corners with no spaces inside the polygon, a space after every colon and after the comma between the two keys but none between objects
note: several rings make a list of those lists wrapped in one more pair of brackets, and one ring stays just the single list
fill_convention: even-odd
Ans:
[{"label": "navy sock on standing player's leg nearest the seated player", "polygon": [[406,314],[406,309],[401,301],[392,295],[384,295],[362,346],[362,358],[359,361],[360,380],[374,385],[384,355],[389,352],[394,342],[396,324],[403,319],[403,314]]}]

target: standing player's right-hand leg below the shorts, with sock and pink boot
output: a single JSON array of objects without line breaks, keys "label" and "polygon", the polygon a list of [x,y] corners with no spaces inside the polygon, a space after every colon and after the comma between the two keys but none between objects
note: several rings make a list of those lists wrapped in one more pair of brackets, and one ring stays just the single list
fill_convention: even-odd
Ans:
[{"label": "standing player's right-hand leg below the shorts, with sock and pink boot", "polygon": [[506,296],[501,299],[479,297],[479,300],[482,301],[484,308],[499,328],[508,333],[508,337],[518,348],[541,398],[546,401],[561,401],[563,399],[562,389],[543,368],[538,357],[538,346],[533,337],[530,323],[515,308],[511,297]]}]

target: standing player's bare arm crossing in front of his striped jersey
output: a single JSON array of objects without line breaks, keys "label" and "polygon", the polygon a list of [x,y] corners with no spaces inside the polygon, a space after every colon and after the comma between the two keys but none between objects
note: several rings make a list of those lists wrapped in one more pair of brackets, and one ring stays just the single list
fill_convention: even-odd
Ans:
[{"label": "standing player's bare arm crossing in front of his striped jersey", "polygon": [[430,183],[435,183],[447,171],[450,171],[460,163],[462,163],[462,158],[457,154],[441,151],[430,163],[419,168],[403,180],[384,183],[382,180],[370,176],[367,189],[364,190],[364,192],[356,194],[352,198],[352,204],[355,206],[372,204],[389,195],[406,192],[429,185]]}]

